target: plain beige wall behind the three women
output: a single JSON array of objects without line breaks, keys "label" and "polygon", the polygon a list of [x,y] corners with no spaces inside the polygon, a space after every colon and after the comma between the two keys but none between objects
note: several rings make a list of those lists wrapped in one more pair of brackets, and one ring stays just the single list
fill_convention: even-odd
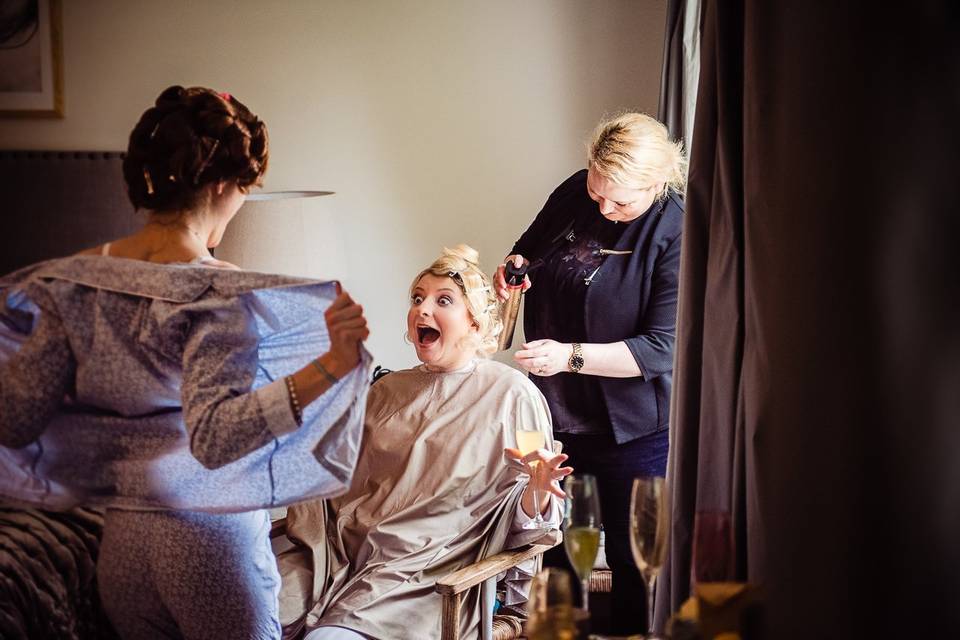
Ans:
[{"label": "plain beige wall behind the three women", "polygon": [[170,84],[237,95],[270,128],[267,189],[337,191],[331,275],[391,368],[415,362],[406,289],[443,245],[493,270],[600,117],[656,113],[665,0],[63,4],[67,116],[0,120],[0,146],[123,149]]}]

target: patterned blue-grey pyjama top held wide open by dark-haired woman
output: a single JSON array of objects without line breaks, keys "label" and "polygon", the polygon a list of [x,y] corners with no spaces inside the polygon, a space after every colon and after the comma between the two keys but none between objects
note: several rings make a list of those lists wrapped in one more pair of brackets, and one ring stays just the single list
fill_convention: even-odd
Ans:
[{"label": "patterned blue-grey pyjama top held wide open by dark-haired woman", "polygon": [[0,500],[236,512],[341,493],[369,354],[299,427],[283,382],[328,349],[335,295],[101,256],[0,278]]}]

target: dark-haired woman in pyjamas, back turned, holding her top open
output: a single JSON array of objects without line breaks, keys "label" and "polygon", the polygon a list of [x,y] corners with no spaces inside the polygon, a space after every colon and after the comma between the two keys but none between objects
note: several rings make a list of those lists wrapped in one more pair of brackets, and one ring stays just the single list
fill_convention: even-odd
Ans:
[{"label": "dark-haired woman in pyjamas, back turned, holding her top open", "polygon": [[97,582],[123,638],[279,638],[266,508],[350,483],[362,309],[210,253],[268,157],[235,97],[170,87],[123,164],[143,228],[0,279],[3,492],[106,509]]}]

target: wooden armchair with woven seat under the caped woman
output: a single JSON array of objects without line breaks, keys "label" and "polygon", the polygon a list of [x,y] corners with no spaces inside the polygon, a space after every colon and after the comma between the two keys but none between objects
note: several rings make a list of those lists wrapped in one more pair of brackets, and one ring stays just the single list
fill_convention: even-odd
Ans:
[{"label": "wooden armchair with woven seat under the caped woman", "polygon": [[[286,535],[286,533],[286,518],[274,520],[270,528],[270,538],[277,538]],[[549,531],[542,538],[530,544],[501,551],[438,580],[436,591],[443,598],[441,639],[459,640],[460,638],[460,610],[464,592],[487,581],[491,582],[490,587],[493,588],[495,586],[493,583],[499,574],[517,566],[524,560],[539,556],[547,549],[560,544],[562,540],[563,536],[559,531]],[[498,620],[498,618],[501,619]],[[495,640],[510,640],[518,637],[522,631],[522,622],[516,618],[509,620],[506,616],[493,616],[492,625],[496,630],[494,632]],[[300,637],[301,634],[302,629],[284,629],[283,637],[296,638]]]}]

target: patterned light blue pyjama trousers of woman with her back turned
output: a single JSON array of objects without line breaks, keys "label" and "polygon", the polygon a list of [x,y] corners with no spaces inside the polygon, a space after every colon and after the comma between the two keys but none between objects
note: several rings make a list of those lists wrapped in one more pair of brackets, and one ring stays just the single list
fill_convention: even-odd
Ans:
[{"label": "patterned light blue pyjama trousers of woman with her back turned", "polygon": [[97,560],[124,640],[279,640],[280,574],[266,511],[108,509]]}]

